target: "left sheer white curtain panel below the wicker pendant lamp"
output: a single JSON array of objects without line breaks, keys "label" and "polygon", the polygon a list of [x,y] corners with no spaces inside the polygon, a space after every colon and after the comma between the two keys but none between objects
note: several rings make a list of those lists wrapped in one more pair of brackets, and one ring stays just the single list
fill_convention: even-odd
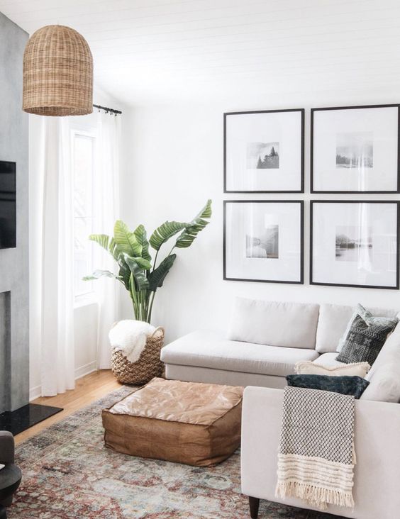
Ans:
[{"label": "left sheer white curtain panel below the wicker pendant lamp", "polygon": [[41,129],[40,378],[42,395],[52,396],[74,389],[71,140],[67,119],[45,118]]}]

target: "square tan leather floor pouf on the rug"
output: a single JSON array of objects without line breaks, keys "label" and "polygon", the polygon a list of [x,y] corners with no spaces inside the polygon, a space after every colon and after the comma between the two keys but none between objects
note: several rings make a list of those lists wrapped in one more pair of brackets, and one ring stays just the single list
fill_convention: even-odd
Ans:
[{"label": "square tan leather floor pouf on the rug", "polygon": [[208,467],[240,445],[242,387],[152,379],[102,413],[106,447]]}]

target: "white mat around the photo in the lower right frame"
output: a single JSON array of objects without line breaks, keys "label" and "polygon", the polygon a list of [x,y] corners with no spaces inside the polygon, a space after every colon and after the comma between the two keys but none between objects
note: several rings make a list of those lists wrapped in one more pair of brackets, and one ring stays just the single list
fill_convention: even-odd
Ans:
[{"label": "white mat around the photo in the lower right frame", "polygon": [[[396,286],[396,203],[313,203],[313,283]],[[338,261],[336,228],[362,228],[372,240],[368,257]]]}]

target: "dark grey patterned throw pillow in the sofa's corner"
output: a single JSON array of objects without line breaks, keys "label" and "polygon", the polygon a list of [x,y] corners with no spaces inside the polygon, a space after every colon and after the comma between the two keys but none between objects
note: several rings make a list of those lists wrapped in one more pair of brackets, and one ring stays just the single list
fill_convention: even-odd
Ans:
[{"label": "dark grey patterned throw pillow in the sofa's corner", "polygon": [[374,317],[359,304],[336,360],[345,364],[368,362],[372,366],[387,336],[398,322],[399,319],[396,317]]}]

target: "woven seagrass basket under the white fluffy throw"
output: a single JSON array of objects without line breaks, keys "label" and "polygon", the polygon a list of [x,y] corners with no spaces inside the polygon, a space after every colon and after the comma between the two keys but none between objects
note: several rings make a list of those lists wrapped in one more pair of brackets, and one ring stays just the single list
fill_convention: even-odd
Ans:
[{"label": "woven seagrass basket under the white fluffy throw", "polygon": [[164,344],[164,328],[159,326],[146,340],[145,347],[136,362],[130,362],[120,350],[111,352],[111,371],[121,384],[146,384],[155,376],[160,376],[163,364],[160,352]]}]

